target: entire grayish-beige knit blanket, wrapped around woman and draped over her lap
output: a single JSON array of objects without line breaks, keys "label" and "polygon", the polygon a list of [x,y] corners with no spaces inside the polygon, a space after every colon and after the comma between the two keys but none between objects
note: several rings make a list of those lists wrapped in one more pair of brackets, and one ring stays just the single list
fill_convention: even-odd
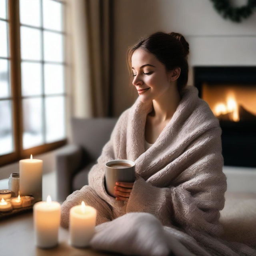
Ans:
[{"label": "entire grayish-beige knit blanket, wrapped around woman and draped over her lap", "polygon": [[[172,119],[145,151],[146,116],[152,107],[138,97],[122,112],[89,172],[89,185],[62,204],[62,226],[68,227],[70,208],[84,200],[97,210],[95,249],[148,256],[256,255],[254,248],[220,239],[227,184],[222,131],[208,104],[195,87],[186,86]],[[114,159],[136,163],[127,202],[106,192],[104,166]]]}]

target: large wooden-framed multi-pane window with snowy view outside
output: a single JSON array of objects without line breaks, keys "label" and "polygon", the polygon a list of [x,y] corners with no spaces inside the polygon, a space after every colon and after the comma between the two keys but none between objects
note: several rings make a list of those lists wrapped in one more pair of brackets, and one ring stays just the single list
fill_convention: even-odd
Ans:
[{"label": "large wooden-framed multi-pane window with snowy view outside", "polygon": [[66,143],[64,8],[0,0],[0,165]]}]

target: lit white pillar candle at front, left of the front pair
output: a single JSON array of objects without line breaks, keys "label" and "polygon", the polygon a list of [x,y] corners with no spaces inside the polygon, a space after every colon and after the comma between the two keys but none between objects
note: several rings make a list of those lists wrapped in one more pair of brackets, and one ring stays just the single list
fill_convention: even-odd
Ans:
[{"label": "lit white pillar candle at front, left of the front pair", "polygon": [[34,204],[33,211],[36,245],[40,248],[56,246],[60,226],[60,204],[52,202],[48,196],[47,202]]}]

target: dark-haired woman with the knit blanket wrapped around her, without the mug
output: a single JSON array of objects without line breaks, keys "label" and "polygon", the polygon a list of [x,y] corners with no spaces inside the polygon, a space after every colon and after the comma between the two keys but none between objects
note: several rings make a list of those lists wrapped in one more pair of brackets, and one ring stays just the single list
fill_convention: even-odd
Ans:
[{"label": "dark-haired woman with the knit blanket wrapped around her, without the mug", "polygon": [[[118,118],[89,185],[62,204],[62,226],[70,208],[84,200],[98,211],[96,225],[146,212],[196,255],[253,255],[246,245],[218,238],[226,191],[221,129],[198,90],[187,86],[188,52],[185,38],[174,32],[154,33],[129,49],[139,96]],[[116,198],[104,184],[105,163],[114,159],[136,163],[136,181],[116,184]]]}]

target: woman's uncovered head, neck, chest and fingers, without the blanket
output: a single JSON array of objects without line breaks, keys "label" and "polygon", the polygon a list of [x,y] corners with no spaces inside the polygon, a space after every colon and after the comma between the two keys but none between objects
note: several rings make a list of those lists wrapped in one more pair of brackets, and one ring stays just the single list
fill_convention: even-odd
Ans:
[{"label": "woman's uncovered head, neck, chest and fingers, without the blanket", "polygon": [[[176,38],[182,40],[179,40],[182,45]],[[154,45],[156,40],[162,40],[162,48]],[[153,102],[152,112],[146,119],[145,149],[154,144],[180,102],[180,92],[188,81],[188,52],[188,43],[177,33],[155,33],[128,51],[128,67],[134,77],[132,84],[142,102]],[[128,201],[133,184],[116,185],[116,200]]]}]

